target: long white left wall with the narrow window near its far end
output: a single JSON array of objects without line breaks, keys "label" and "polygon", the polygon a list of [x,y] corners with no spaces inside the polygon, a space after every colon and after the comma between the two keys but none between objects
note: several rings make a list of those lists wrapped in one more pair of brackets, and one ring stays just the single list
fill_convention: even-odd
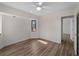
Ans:
[{"label": "long white left wall with the narrow window near its far end", "polygon": [[[0,43],[0,47],[23,41],[28,38],[38,37],[39,32],[32,33],[30,31],[30,19],[36,19],[36,15],[3,5],[1,3],[0,14],[3,16],[3,33],[0,35],[0,38],[2,37],[2,41],[0,42],[3,44]],[[13,18],[12,16],[16,17]]]}]

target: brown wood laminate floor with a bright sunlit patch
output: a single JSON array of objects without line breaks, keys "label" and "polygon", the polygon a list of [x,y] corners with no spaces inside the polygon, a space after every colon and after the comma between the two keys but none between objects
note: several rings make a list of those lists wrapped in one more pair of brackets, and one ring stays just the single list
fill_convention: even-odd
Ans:
[{"label": "brown wood laminate floor with a bright sunlit patch", "polygon": [[44,39],[28,39],[0,50],[1,56],[73,56],[72,42],[58,44]]}]

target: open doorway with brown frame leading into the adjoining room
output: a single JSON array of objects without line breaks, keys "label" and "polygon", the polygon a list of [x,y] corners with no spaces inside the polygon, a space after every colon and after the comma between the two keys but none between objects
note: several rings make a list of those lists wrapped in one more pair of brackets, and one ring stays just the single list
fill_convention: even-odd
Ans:
[{"label": "open doorway with brown frame leading into the adjoining room", "polygon": [[73,42],[75,39],[75,23],[74,16],[65,16],[61,18],[61,43],[63,42]]}]

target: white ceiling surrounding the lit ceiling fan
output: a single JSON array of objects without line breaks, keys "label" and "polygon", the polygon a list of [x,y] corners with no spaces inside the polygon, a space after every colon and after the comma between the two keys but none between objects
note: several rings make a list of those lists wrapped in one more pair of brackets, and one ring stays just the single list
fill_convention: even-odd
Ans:
[{"label": "white ceiling surrounding the lit ceiling fan", "polygon": [[7,6],[20,9],[25,12],[30,12],[35,15],[45,15],[49,12],[57,12],[62,10],[74,9],[76,8],[77,2],[44,2],[41,11],[37,11],[36,7],[32,6],[35,2],[2,2]]}]

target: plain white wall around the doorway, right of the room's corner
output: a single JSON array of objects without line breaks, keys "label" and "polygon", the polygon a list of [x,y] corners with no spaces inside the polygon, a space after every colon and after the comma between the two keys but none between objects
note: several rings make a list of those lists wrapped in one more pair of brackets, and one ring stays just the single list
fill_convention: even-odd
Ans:
[{"label": "plain white wall around the doorway, right of the room's corner", "polygon": [[50,13],[39,17],[40,38],[61,43],[61,17],[74,15],[73,10]]}]

